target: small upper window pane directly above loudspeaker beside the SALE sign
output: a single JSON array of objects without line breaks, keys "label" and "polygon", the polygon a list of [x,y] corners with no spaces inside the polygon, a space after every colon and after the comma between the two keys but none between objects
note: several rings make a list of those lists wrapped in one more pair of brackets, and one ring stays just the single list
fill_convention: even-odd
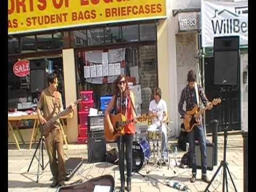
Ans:
[{"label": "small upper window pane directly above loudspeaker beside the SALE sign", "polygon": [[52,49],[52,34],[37,35],[37,51],[47,51]]}]

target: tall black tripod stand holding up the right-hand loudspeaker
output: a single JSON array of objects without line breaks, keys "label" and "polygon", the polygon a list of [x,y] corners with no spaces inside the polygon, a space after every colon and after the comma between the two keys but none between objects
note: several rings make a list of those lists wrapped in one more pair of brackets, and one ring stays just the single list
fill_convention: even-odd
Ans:
[{"label": "tall black tripod stand holding up the right-hand loudspeaker", "polygon": [[[221,93],[223,91],[223,88],[221,87]],[[227,102],[227,100],[226,100]],[[227,105],[227,104],[226,104]],[[227,109],[225,108],[225,117],[227,117]],[[222,110],[222,113],[223,113],[223,110]],[[222,122],[223,122],[223,119],[222,119]],[[225,119],[225,122],[226,122],[226,119]],[[226,127],[224,128],[224,150],[223,150],[223,160],[221,161],[217,171],[214,173],[211,181],[208,183],[207,187],[205,188],[204,192],[206,191],[209,191],[209,187],[211,186],[212,184],[212,181],[214,180],[214,178],[216,177],[216,175],[218,174],[218,172],[220,171],[220,168],[223,167],[223,180],[222,180],[222,192],[225,191],[225,184],[226,184],[226,191],[228,192],[228,177],[227,177],[227,172],[229,174],[229,177],[233,183],[233,186],[234,186],[234,189],[235,191],[237,192],[237,189],[236,189],[236,186],[235,186],[235,183],[234,183],[234,180],[232,179],[231,177],[231,174],[230,174],[230,171],[228,169],[228,163],[226,162],[226,149],[227,149],[227,139],[228,139],[228,125],[227,123],[226,124]]]}]

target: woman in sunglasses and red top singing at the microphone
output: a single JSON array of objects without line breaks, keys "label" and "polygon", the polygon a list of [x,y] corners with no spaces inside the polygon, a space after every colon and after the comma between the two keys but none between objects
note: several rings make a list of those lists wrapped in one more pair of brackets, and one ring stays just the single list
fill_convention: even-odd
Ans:
[{"label": "woman in sunglasses and red top singing at the microphone", "polygon": [[[126,77],[119,75],[115,80],[115,94],[111,101],[108,103],[105,111],[105,121],[109,126],[110,132],[114,133],[114,127],[111,124],[109,113],[111,114],[123,114],[126,119],[135,119],[136,114],[132,107],[134,105],[134,95],[129,90]],[[123,120],[123,119],[122,119]],[[121,119],[120,119],[121,121]],[[105,127],[107,129],[107,127]],[[117,139],[118,153],[119,153],[119,171],[121,175],[121,191],[124,192],[125,176],[124,176],[124,153],[127,164],[127,191],[131,191],[131,176],[132,176],[132,141],[135,133],[134,123],[124,125],[124,129],[121,131],[121,137]],[[121,150],[120,150],[120,143]],[[125,148],[124,148],[125,146]],[[125,149],[125,150],[124,150]]]}]

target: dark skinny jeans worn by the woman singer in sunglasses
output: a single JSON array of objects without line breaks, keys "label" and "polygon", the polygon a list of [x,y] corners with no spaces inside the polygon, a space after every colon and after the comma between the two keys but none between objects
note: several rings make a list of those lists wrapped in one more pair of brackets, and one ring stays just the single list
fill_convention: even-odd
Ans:
[{"label": "dark skinny jeans worn by the woman singer in sunglasses", "polygon": [[[124,154],[126,159],[127,168],[127,180],[131,181],[132,177],[132,141],[133,134],[125,134],[122,136],[122,149],[120,151],[120,138],[117,139],[118,154],[119,154],[119,171],[121,175],[121,181],[125,181],[124,177]],[[125,148],[124,148],[125,146]]]}]

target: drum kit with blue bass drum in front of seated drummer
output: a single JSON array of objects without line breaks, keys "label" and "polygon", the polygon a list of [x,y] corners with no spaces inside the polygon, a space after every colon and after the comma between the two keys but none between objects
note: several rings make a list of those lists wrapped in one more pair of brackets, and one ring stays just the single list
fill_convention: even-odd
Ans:
[{"label": "drum kit with blue bass drum in front of seated drummer", "polygon": [[[169,123],[173,123],[170,120],[165,121],[167,124],[167,129]],[[148,129],[146,131],[146,137],[139,137],[137,139],[137,133],[135,133],[135,141],[133,141],[132,145],[132,171],[138,172],[143,166],[146,167],[147,164],[153,164],[154,167],[162,167],[162,163],[170,166],[170,159],[167,147],[167,161],[166,159],[162,159],[162,131],[161,128],[157,127],[156,129]],[[168,137],[167,137],[168,143]],[[166,145],[168,145],[166,143]]]}]

